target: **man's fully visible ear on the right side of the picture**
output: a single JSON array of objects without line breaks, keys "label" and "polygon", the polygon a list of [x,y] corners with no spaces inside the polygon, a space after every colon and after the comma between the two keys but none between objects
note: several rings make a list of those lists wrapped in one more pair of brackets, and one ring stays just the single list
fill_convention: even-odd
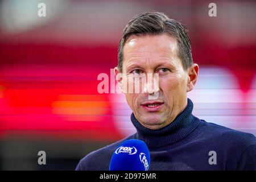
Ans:
[{"label": "man's fully visible ear on the right side of the picture", "polygon": [[187,92],[193,90],[196,85],[196,81],[199,74],[199,65],[193,64],[188,68],[188,84],[187,84]]}]

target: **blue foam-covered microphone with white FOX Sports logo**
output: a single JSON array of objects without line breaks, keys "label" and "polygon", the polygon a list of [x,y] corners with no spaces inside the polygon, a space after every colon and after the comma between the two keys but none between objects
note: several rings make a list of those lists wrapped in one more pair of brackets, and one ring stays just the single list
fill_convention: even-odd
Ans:
[{"label": "blue foam-covered microphone with white FOX Sports logo", "polygon": [[150,152],[146,143],[138,139],[122,142],[110,160],[110,171],[148,171]]}]

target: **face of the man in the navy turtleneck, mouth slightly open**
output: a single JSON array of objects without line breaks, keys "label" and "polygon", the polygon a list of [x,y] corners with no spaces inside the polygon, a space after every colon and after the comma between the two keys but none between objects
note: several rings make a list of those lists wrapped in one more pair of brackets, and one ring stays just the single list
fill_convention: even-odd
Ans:
[{"label": "face of the man in the navy turtleneck, mouth slightly open", "polygon": [[[170,124],[187,106],[188,71],[177,56],[177,43],[168,35],[131,36],[123,48],[123,80],[133,75],[152,74],[152,81],[141,82],[140,93],[126,93],[126,100],[135,118],[149,129],[160,129]],[[115,68],[115,74],[119,73]],[[133,74],[131,74],[133,73]],[[154,88],[154,73],[159,76],[159,88]],[[122,81],[119,84],[122,86]],[[133,86],[138,86],[134,82]],[[152,85],[151,85],[152,84]],[[158,93],[155,100],[149,95]]]}]

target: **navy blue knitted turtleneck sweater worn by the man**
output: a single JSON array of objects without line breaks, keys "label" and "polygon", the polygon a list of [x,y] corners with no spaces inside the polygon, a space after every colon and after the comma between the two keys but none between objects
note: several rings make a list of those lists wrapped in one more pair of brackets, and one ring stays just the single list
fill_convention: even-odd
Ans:
[{"label": "navy blue knitted turtleneck sweater worn by the man", "polygon": [[208,123],[192,115],[193,103],[159,130],[142,126],[131,114],[137,133],[93,151],[80,160],[76,170],[109,170],[115,149],[124,140],[143,140],[150,150],[150,170],[256,170],[253,134]]}]

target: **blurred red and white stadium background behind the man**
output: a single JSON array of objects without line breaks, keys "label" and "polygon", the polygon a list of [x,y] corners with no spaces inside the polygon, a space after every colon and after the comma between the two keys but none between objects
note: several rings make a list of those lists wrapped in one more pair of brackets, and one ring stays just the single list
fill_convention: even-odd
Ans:
[{"label": "blurred red and white stadium background behind the man", "polygon": [[[39,2],[46,17],[37,15]],[[88,152],[135,131],[125,98],[98,93],[97,76],[117,65],[129,19],[152,10],[189,30],[200,66],[188,94],[194,114],[256,134],[256,2],[215,1],[216,17],[209,3],[0,1],[2,169],[74,169]],[[39,167],[35,152],[44,147],[52,163]]]}]

